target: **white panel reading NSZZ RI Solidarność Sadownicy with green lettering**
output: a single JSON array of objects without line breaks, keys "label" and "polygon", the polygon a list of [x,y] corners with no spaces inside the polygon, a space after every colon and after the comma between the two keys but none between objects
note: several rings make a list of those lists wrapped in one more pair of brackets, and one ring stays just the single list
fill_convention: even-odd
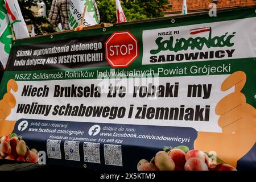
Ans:
[{"label": "white panel reading NSZZ RI Solidarno\u015b\u0107 Sadownicy with green lettering", "polygon": [[142,64],[256,57],[256,42],[250,40],[255,21],[253,17],[143,31]]}]

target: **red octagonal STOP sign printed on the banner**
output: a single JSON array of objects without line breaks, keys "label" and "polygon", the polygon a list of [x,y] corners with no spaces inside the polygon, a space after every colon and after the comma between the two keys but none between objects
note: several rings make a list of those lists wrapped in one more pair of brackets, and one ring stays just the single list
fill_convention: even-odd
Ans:
[{"label": "red octagonal STOP sign printed on the banner", "polygon": [[105,58],[113,68],[128,67],[139,56],[138,45],[130,31],[114,32],[105,42]]}]

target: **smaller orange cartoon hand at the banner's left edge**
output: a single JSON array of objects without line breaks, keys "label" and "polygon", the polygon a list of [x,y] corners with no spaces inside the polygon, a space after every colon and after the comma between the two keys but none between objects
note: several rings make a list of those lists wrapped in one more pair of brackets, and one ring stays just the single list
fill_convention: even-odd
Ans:
[{"label": "smaller orange cartoon hand at the banner's left edge", "polygon": [[11,134],[16,123],[16,121],[6,121],[6,118],[11,114],[11,109],[16,105],[16,100],[11,93],[11,89],[14,92],[18,91],[18,85],[13,79],[7,82],[7,93],[0,101],[0,137]]}]

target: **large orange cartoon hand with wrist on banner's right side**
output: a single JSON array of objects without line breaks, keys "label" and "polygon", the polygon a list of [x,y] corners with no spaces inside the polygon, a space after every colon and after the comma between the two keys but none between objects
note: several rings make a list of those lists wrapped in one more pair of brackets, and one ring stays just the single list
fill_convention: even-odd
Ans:
[{"label": "large orange cartoon hand with wrist on banner's right side", "polygon": [[246,82],[244,72],[235,72],[221,85],[226,91],[234,86],[234,92],[222,98],[215,112],[220,115],[218,125],[222,133],[198,132],[194,148],[214,151],[218,158],[236,167],[237,160],[247,154],[256,142],[256,110],[246,104],[241,90]]}]

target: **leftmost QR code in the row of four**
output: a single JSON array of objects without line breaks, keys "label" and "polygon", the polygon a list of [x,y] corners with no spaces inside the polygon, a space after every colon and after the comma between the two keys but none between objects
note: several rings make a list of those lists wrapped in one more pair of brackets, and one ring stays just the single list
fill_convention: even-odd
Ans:
[{"label": "leftmost QR code in the row of four", "polygon": [[60,143],[61,140],[47,140],[46,147],[48,158],[61,159]]}]

